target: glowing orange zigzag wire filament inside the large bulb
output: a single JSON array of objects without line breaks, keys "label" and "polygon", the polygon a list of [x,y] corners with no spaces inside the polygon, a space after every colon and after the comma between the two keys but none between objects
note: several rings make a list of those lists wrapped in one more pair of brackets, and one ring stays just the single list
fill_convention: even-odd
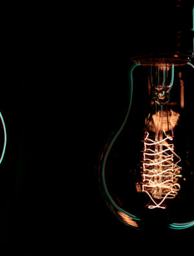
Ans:
[{"label": "glowing orange zigzag wire filament inside the large bulb", "polygon": [[162,208],[166,198],[175,198],[180,185],[177,183],[181,167],[180,157],[174,152],[173,137],[166,136],[152,140],[146,132],[144,138],[143,185],[142,191],[151,198],[149,209]]}]

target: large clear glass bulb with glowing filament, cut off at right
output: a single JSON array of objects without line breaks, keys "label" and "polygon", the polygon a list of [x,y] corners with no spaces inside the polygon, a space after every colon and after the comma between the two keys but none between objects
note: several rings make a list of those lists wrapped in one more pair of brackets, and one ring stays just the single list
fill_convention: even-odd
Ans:
[{"label": "large clear glass bulb with glowing filament, cut off at right", "polygon": [[99,166],[103,198],[129,227],[194,225],[193,68],[186,57],[133,60],[129,107]]}]

